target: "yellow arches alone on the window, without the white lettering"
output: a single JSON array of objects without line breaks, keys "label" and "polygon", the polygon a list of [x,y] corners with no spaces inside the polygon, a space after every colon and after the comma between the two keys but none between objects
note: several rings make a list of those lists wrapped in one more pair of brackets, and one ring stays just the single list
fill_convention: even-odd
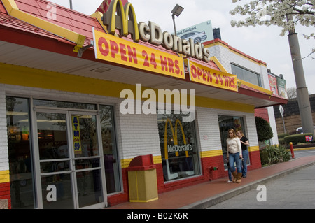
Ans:
[{"label": "yellow arches alone on the window, without the white lettering", "polygon": [[[167,148],[167,125],[168,124],[169,124],[169,126],[171,127],[171,130],[172,130],[172,136],[174,138],[174,145],[178,145],[178,143],[179,143],[179,141],[177,140],[177,127],[178,127],[178,125],[181,127],[181,134],[183,136],[183,143],[185,145],[187,145],[186,137],[185,137],[185,133],[183,131],[183,126],[181,124],[181,121],[179,119],[176,120],[176,122],[175,122],[175,132],[174,132],[172,121],[168,118],[167,121],[165,122],[165,133],[164,133],[165,159],[169,159],[169,151],[168,151],[168,148]],[[186,157],[189,157],[188,151],[186,150],[185,152],[186,152]],[[178,157],[179,156],[179,152],[176,151],[175,155],[176,155],[176,157]]]}]

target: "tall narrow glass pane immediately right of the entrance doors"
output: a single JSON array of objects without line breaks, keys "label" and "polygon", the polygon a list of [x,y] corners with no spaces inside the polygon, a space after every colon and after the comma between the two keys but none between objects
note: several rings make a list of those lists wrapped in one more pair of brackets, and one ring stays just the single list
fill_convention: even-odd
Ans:
[{"label": "tall narrow glass pane immediately right of the entrance doors", "polygon": [[99,106],[107,193],[120,192],[120,168],[116,146],[113,107]]}]

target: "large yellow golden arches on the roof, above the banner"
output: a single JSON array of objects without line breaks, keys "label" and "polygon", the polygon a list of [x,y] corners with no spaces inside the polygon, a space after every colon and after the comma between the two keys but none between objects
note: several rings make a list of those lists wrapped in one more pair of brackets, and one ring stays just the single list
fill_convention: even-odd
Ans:
[{"label": "large yellow golden arches on the roof, above the banner", "polygon": [[121,0],[111,1],[109,10],[104,13],[103,23],[108,27],[110,34],[116,34],[117,28],[121,35],[132,34],[134,41],[139,42],[139,27],[132,3],[127,2],[124,7]]}]

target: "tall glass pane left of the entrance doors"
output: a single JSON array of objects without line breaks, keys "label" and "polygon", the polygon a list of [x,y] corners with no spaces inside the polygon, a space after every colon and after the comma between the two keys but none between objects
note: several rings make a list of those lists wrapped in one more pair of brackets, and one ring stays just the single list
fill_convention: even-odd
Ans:
[{"label": "tall glass pane left of the entrance doors", "polygon": [[29,99],[6,97],[11,208],[35,208]]}]

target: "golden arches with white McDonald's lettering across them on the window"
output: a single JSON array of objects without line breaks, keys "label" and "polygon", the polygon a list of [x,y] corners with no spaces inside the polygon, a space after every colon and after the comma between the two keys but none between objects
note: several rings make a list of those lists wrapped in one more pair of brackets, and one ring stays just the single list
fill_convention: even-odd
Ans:
[{"label": "golden arches with white McDonald's lettering across them on the window", "polygon": [[[172,141],[174,141],[174,145],[168,145],[167,141],[167,126],[171,127],[172,130]],[[183,144],[184,145],[179,145],[179,140],[177,138],[178,136],[178,131],[177,127],[181,127],[181,134],[183,136]],[[185,152],[186,157],[189,157],[188,151],[193,150],[193,146],[187,143],[186,141],[186,136],[183,131],[183,125],[181,124],[181,121],[179,119],[176,120],[175,122],[175,131],[172,125],[172,121],[168,118],[167,121],[165,122],[165,134],[164,134],[164,147],[165,147],[165,159],[169,159],[169,152],[175,152],[176,157],[179,157],[179,152]]]}]

